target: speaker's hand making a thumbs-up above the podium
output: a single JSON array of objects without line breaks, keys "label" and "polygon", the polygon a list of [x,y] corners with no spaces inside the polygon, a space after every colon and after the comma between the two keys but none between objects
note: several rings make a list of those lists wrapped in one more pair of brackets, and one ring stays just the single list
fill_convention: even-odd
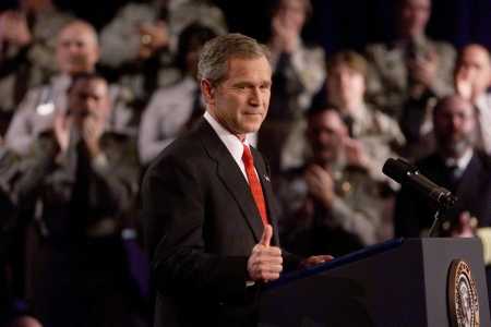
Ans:
[{"label": "speaker's hand making a thumbs-up above the podium", "polygon": [[248,259],[248,272],[252,281],[267,282],[279,278],[283,270],[282,250],[270,245],[272,237],[273,228],[267,225],[261,241],[252,249]]}]

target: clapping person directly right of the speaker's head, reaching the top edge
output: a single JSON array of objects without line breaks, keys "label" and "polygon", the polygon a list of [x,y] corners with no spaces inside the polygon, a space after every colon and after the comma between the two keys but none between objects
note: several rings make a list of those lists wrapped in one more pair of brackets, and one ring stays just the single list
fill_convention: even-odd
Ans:
[{"label": "clapping person directly right of the speaker's head, reaching the top edge", "polygon": [[268,40],[273,63],[272,99],[258,144],[273,174],[302,162],[303,113],[325,77],[324,51],[307,46],[301,38],[311,12],[310,0],[274,1]]}]

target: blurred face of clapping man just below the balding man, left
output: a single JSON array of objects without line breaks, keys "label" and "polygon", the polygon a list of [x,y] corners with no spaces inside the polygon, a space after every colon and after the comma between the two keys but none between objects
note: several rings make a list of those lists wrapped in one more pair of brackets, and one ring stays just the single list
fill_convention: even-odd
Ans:
[{"label": "blurred face of clapping man just below the balding man, left", "polygon": [[107,83],[103,80],[80,80],[69,92],[68,105],[75,125],[82,126],[86,119],[104,124],[110,111]]}]

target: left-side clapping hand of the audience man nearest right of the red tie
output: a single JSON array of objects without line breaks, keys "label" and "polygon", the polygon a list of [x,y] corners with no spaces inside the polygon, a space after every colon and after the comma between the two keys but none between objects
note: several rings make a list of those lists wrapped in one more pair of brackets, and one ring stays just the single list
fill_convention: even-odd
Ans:
[{"label": "left-side clapping hand of the audience man nearest right of the red tie", "polygon": [[335,196],[331,174],[324,168],[311,165],[306,171],[306,182],[309,194],[330,208]]}]

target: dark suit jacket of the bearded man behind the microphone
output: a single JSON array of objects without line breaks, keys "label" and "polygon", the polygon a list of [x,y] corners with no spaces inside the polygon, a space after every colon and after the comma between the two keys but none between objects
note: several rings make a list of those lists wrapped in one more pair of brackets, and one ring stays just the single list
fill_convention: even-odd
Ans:
[{"label": "dark suit jacket of the bearded man behind the microphone", "polygon": [[[416,166],[421,173],[436,184],[448,189],[458,197],[454,208],[442,213],[444,219],[455,223],[458,215],[468,210],[478,218],[479,227],[491,226],[491,164],[490,158],[475,152],[469,165],[457,183],[452,183],[443,159],[433,154]],[[433,222],[435,208],[418,193],[403,187],[395,210],[395,234],[397,237],[418,237]]]}]

